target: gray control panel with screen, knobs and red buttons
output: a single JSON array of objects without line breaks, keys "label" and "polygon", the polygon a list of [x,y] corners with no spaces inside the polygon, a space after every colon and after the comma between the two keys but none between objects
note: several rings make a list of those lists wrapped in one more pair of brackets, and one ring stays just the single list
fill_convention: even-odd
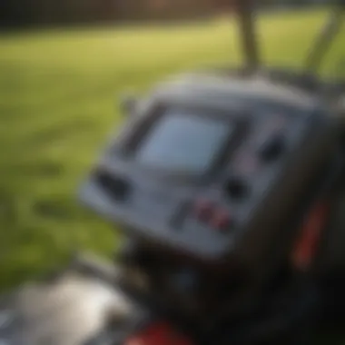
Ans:
[{"label": "gray control panel with screen, knobs and red buttons", "polygon": [[273,242],[289,241],[296,200],[337,144],[334,123],[307,95],[212,83],[154,94],[81,196],[138,239],[261,270]]}]

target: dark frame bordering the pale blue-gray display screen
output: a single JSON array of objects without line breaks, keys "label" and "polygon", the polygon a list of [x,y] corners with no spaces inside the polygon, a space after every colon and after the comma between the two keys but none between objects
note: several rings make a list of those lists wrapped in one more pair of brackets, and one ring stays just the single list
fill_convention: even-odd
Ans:
[{"label": "dark frame bordering the pale blue-gray display screen", "polygon": [[[208,169],[200,173],[177,173],[172,170],[157,168],[135,161],[135,152],[138,146],[143,142],[145,136],[153,129],[154,123],[159,121],[165,114],[169,114],[170,110],[177,110],[181,113],[186,113],[187,116],[197,116],[206,118],[216,118],[217,121],[222,121],[224,125],[229,126],[229,138],[224,140],[221,147],[214,154],[212,162]],[[163,177],[170,180],[177,180],[179,182],[199,181],[202,178],[208,177],[213,173],[222,169],[222,165],[231,159],[232,153],[239,143],[244,140],[244,136],[248,131],[248,117],[243,116],[239,109],[216,109],[212,106],[197,106],[191,104],[180,103],[161,103],[155,104],[153,108],[137,123],[132,133],[127,137],[123,145],[122,156],[125,160],[133,163],[133,165],[143,171],[143,173],[150,173],[155,177]],[[233,129],[231,129],[233,127]]]}]

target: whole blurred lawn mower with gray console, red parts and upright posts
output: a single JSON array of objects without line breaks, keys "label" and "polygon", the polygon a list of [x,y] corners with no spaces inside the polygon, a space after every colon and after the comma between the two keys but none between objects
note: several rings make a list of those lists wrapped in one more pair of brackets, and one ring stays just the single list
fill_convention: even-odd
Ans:
[{"label": "whole blurred lawn mower with gray console, red parts and upright posts", "polygon": [[127,121],[79,192],[121,249],[6,296],[0,344],[302,345],[342,320],[345,84],[316,75],[334,7],[302,71],[261,65],[242,0],[242,68],[123,99]]}]

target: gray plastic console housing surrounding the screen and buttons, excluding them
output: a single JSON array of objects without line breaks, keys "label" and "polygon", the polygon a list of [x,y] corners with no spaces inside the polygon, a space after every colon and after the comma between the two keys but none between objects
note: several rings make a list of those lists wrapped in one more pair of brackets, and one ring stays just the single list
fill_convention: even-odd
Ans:
[{"label": "gray plastic console housing surrounding the screen and buttons, excluding them", "polygon": [[[222,113],[245,131],[224,161],[194,179],[143,168],[125,154],[129,138],[169,107]],[[82,186],[81,200],[139,240],[263,279],[286,259],[295,237],[291,216],[338,145],[337,123],[326,109],[313,94],[260,77],[176,78],[153,90],[110,141]],[[270,159],[264,152],[274,141],[280,149]],[[229,195],[232,179],[244,183],[245,197]],[[200,199],[229,212],[227,231],[195,218],[193,204]]]}]

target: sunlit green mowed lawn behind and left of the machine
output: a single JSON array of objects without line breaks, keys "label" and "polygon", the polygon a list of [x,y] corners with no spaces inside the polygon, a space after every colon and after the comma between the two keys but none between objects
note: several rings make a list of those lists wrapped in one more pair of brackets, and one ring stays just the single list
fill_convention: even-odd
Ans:
[{"label": "sunlit green mowed lawn behind and left of the machine", "polygon": [[[326,15],[262,15],[265,61],[301,65]],[[345,74],[344,42],[341,33],[322,73]],[[78,204],[76,190],[123,121],[123,91],[143,93],[169,74],[240,61],[235,26],[224,18],[1,34],[0,290],[63,264],[74,246],[112,253],[112,227]]]}]

